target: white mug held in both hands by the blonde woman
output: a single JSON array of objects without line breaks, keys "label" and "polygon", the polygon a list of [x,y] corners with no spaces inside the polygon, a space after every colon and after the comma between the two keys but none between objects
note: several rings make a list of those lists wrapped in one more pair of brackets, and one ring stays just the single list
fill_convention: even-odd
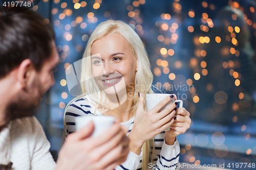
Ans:
[{"label": "white mug held in both hands by the blonde woman", "polygon": [[[159,102],[161,102],[164,98],[166,98],[167,96],[170,96],[171,94],[166,94],[166,93],[151,93],[151,94],[146,94],[146,109],[150,110],[152,108],[154,108]],[[164,107],[162,107],[162,109],[159,110],[159,112],[161,112],[162,110],[164,110],[166,107],[170,106],[172,103],[174,102],[179,102],[179,107],[183,106],[183,101],[181,100],[174,100],[174,98],[168,102],[166,105],[164,105]],[[170,127],[164,129],[163,131],[168,131],[170,130]]]}]

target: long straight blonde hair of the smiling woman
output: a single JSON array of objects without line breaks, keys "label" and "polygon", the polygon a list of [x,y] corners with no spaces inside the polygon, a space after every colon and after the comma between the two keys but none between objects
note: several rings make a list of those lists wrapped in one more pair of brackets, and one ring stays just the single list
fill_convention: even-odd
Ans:
[{"label": "long straight blonde hair of the smiling woman", "polygon": [[[106,20],[101,22],[96,29],[93,31],[92,35],[90,36],[86,50],[83,53],[82,59],[82,66],[81,66],[81,90],[82,95],[78,96],[77,98],[73,99],[70,103],[74,100],[81,98],[81,96],[89,95],[90,98],[95,102],[95,110],[99,107],[106,107],[106,94],[104,90],[101,90],[98,87],[96,81],[92,75],[92,62],[91,62],[91,47],[92,44],[101,39],[106,37],[108,34],[119,33],[121,34],[130,44],[135,60],[137,60],[137,72],[135,75],[135,91],[133,96],[133,107],[132,113],[135,115],[137,106],[138,106],[138,92],[144,96],[144,110],[146,111],[146,102],[145,102],[145,94],[147,93],[154,93],[151,86],[153,83],[153,74],[151,71],[150,61],[148,60],[148,56],[144,47],[144,44],[138,34],[129,26],[127,23],[120,21],[120,20]],[[69,104],[70,104],[69,103]],[[67,108],[65,109],[65,113]],[[65,116],[64,116],[65,118]],[[64,122],[65,126],[65,122]],[[66,128],[65,128],[66,129]],[[143,132],[142,132],[143,133]],[[152,155],[155,151],[155,144],[154,138],[149,139],[144,142],[142,151],[142,169],[148,169],[148,163],[152,161]],[[151,147],[153,149],[151,150]],[[151,156],[150,156],[151,155]]]}]

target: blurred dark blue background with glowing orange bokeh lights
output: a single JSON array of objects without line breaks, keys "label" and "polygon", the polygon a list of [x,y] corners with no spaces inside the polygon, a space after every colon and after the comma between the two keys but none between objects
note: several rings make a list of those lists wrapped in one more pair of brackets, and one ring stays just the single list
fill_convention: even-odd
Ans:
[{"label": "blurred dark blue background with glowing orange bokeh lights", "polygon": [[115,19],[143,40],[161,91],[153,89],[177,94],[191,114],[190,129],[178,136],[180,162],[248,169],[236,163],[256,162],[255,8],[253,0],[41,0],[32,10],[54,26],[61,61],[36,116],[51,150],[61,147],[73,99],[65,69],[81,59],[95,27]]}]

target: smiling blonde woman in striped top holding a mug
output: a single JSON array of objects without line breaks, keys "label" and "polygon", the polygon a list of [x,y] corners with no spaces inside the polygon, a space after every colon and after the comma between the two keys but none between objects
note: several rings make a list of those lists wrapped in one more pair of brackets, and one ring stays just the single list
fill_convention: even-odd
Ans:
[{"label": "smiling blonde woman in striped top holding a mug", "polygon": [[[176,169],[180,147],[176,136],[190,126],[189,112],[173,103],[159,110],[176,95],[170,95],[146,110],[145,94],[153,74],[140,37],[126,23],[107,20],[92,33],[83,54],[83,94],[66,108],[66,136],[75,131],[74,118],[82,115],[112,115],[128,129],[130,153],[119,169]],[[170,126],[169,131],[163,131]]]}]

